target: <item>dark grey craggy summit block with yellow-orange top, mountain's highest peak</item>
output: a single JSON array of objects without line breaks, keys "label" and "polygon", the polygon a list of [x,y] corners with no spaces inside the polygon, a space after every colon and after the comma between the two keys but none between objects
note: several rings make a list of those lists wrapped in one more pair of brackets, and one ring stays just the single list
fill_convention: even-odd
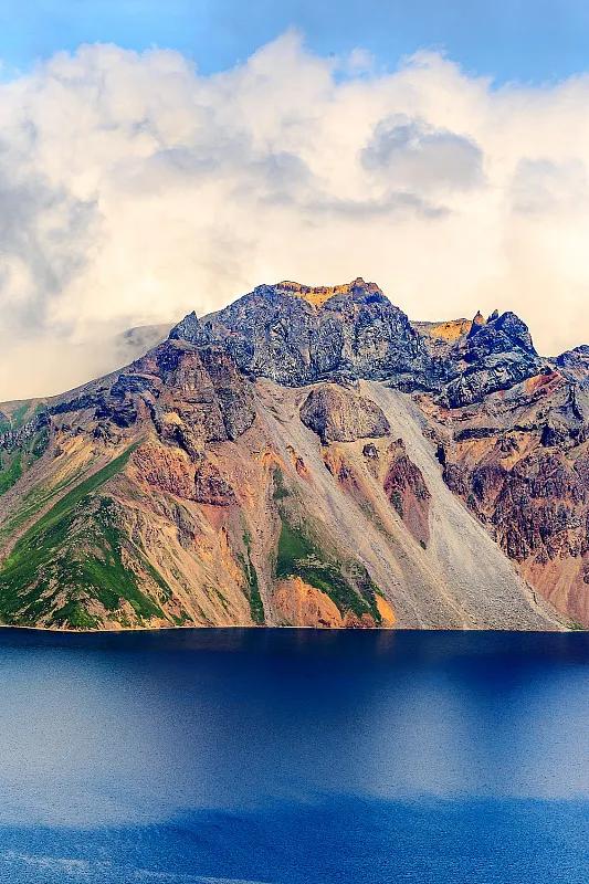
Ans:
[{"label": "dark grey craggy summit block with yellow-orange top, mountain's highest peak", "polygon": [[170,337],[227,349],[240,369],[278,383],[304,385],[333,373],[398,375],[428,382],[435,367],[409,319],[374,283],[333,288],[261,285],[199,323],[191,314]]}]

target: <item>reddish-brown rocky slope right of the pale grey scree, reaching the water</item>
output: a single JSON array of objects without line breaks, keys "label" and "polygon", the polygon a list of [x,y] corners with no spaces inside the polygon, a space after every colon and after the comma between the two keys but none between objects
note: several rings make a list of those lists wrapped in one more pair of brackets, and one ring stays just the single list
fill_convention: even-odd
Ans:
[{"label": "reddish-brown rocky slope right of the pale grey scree, reaching the water", "polygon": [[[574,362],[579,371],[576,357]],[[486,397],[476,409],[438,418],[444,428],[460,427],[442,445],[449,487],[532,586],[572,621],[589,623],[589,397],[582,369],[577,383],[550,370]]]}]

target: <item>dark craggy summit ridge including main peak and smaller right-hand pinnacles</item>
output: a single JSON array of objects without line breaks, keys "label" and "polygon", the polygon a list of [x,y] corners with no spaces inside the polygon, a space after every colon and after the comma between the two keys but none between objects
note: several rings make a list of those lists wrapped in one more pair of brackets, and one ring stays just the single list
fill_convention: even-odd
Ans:
[{"label": "dark craggy summit ridge including main peak and smaller right-hand pinnacles", "polygon": [[333,288],[261,285],[202,320],[189,314],[170,338],[214,344],[242,371],[283,385],[386,378],[406,391],[438,391],[450,408],[508,389],[543,365],[513,313],[413,327],[361,278]]}]

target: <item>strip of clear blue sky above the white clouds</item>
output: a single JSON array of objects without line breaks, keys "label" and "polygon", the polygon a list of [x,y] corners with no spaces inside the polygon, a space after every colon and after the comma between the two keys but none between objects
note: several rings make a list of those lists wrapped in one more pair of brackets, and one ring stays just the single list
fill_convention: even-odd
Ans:
[{"label": "strip of clear blue sky above the white clouds", "polygon": [[361,46],[380,69],[423,48],[497,83],[554,82],[589,66],[587,0],[0,0],[3,77],[83,42],[180,50],[204,72],[288,27],[322,55]]}]

